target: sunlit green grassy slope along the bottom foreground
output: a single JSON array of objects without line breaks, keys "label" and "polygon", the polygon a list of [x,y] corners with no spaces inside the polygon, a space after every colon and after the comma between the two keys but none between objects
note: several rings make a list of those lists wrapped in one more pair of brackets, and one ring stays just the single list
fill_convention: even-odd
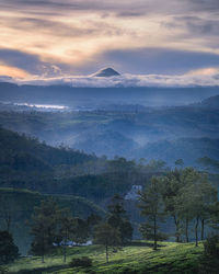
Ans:
[{"label": "sunlit green grassy slope along the bottom foreground", "polygon": [[[146,243],[136,243],[123,250],[112,253],[110,263],[105,262],[103,247],[73,247],[68,248],[67,263],[64,264],[61,250],[54,255],[46,256],[45,263],[41,258],[22,258],[9,265],[9,273],[198,273],[197,266],[203,253],[203,244],[195,247],[194,243],[160,243],[159,250],[153,251]],[[89,256],[93,266],[70,267],[72,258]]]}]

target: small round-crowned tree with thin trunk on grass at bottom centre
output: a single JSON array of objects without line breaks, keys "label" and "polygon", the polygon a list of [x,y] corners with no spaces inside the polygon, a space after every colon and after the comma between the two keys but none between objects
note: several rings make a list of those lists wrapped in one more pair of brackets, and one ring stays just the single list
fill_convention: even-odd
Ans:
[{"label": "small round-crowned tree with thin trunk on grass at bottom centre", "polygon": [[106,262],[108,263],[111,249],[118,250],[120,248],[119,231],[107,222],[102,222],[95,227],[94,242],[105,247]]}]

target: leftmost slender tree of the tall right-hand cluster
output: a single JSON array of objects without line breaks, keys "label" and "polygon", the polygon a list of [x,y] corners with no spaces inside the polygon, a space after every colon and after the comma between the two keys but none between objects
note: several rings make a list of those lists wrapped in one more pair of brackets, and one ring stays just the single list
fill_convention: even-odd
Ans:
[{"label": "leftmost slender tree of the tall right-hand cluster", "polygon": [[139,207],[141,215],[147,217],[145,224],[140,226],[140,232],[143,238],[153,240],[153,249],[158,249],[158,240],[164,240],[166,237],[159,231],[159,222],[164,221],[164,205],[160,192],[159,179],[153,176],[151,184],[140,193]]}]

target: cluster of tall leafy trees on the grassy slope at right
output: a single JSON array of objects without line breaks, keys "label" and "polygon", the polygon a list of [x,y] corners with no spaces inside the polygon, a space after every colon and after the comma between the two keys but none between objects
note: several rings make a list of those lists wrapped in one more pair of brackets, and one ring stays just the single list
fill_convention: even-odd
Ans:
[{"label": "cluster of tall leafy trees on the grassy slope at right", "polygon": [[188,242],[189,225],[194,227],[195,241],[198,246],[205,239],[206,225],[217,222],[217,190],[209,183],[205,173],[193,168],[175,169],[162,176],[154,176],[151,184],[140,193],[139,207],[147,220],[140,230],[146,239],[157,241],[165,239],[159,231],[164,217],[172,217],[175,225],[176,241]]}]

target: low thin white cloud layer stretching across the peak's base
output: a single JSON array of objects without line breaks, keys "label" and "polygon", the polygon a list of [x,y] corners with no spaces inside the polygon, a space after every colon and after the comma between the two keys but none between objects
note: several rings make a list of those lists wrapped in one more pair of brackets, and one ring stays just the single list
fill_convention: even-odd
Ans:
[{"label": "low thin white cloud layer stretching across the peak's base", "polygon": [[[0,78],[1,79],[1,78]],[[18,84],[35,85],[69,85],[89,88],[110,87],[215,87],[219,85],[219,68],[205,68],[203,70],[188,71],[184,75],[120,75],[111,78],[80,76],[35,79],[13,79]]]}]

